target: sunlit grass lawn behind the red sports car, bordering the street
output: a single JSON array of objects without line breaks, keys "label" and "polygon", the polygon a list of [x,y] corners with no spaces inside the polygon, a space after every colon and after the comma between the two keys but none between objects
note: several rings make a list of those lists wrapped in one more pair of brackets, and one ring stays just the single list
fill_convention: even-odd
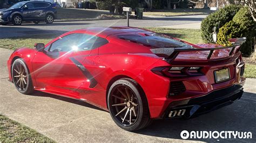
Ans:
[{"label": "sunlit grass lawn behind the red sports car, bordering the street", "polygon": [[[193,44],[203,43],[203,40],[201,39],[201,36],[200,36],[201,35],[200,30],[154,28],[154,27],[146,27],[146,29],[155,31],[158,33],[170,35],[171,37],[179,38],[181,40],[185,40]],[[0,39],[0,47],[13,49],[13,50],[19,47],[32,48],[35,45],[35,43],[43,42],[44,44],[47,44],[50,40],[52,40],[53,38],[56,38],[57,36],[58,35],[56,34],[47,34],[47,35],[43,34],[43,35],[33,35],[30,37],[22,37],[22,38]],[[255,57],[256,55],[252,56],[252,58],[254,59]],[[246,59],[246,61],[248,60]],[[256,64],[254,64],[253,62],[248,62],[248,64],[246,64],[245,77],[256,78]]]}]

